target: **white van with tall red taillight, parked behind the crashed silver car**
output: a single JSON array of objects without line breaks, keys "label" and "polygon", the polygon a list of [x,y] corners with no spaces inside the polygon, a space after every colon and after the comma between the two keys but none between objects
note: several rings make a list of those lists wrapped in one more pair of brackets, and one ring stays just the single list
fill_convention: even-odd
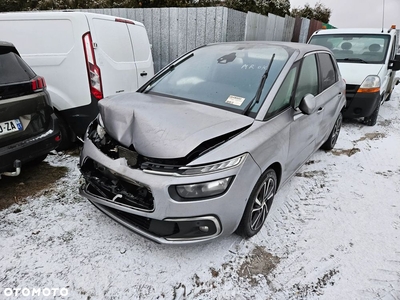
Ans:
[{"label": "white van with tall red taillight, parked behind the crashed silver car", "polygon": [[0,32],[46,79],[64,147],[83,136],[99,100],[135,91],[154,75],[146,29],[129,19],[84,12],[0,13]]}]

